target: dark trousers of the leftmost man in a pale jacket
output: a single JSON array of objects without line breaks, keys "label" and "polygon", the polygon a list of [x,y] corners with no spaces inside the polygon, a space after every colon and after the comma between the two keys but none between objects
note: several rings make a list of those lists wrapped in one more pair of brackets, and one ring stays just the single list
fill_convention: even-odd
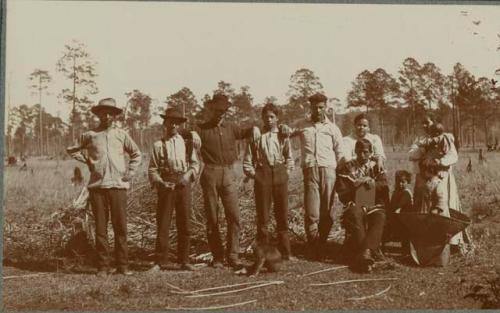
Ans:
[{"label": "dark trousers of the leftmost man in a pale jacket", "polygon": [[119,268],[125,269],[128,264],[127,251],[127,190],[125,189],[89,189],[89,199],[95,219],[95,241],[97,251],[97,267],[109,267],[108,221],[115,235],[115,258]]}]

